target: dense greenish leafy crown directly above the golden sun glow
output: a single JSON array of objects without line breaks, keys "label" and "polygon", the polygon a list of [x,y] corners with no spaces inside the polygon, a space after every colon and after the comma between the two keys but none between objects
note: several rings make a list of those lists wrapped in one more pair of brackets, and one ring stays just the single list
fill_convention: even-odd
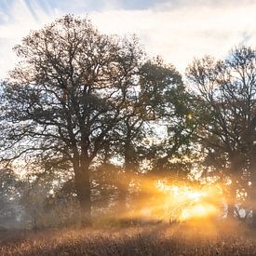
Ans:
[{"label": "dense greenish leafy crown directly above the golden sun glow", "polygon": [[182,75],[160,58],[148,61],[141,68],[141,97],[154,131],[152,138],[147,138],[153,141],[149,152],[153,170],[171,176],[187,175],[191,167],[184,156],[190,154],[195,122],[193,97]]}]

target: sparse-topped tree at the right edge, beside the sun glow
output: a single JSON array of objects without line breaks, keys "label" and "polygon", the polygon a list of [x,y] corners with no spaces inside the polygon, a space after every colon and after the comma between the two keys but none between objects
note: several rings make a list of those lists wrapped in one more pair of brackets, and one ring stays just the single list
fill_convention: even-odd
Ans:
[{"label": "sparse-topped tree at the right edge, beside the sun glow", "polygon": [[239,189],[251,190],[255,197],[253,185],[249,188],[249,182],[256,182],[255,57],[255,50],[238,47],[225,61],[206,57],[188,68],[200,108],[198,138],[208,151],[208,163],[232,180],[231,216]]}]

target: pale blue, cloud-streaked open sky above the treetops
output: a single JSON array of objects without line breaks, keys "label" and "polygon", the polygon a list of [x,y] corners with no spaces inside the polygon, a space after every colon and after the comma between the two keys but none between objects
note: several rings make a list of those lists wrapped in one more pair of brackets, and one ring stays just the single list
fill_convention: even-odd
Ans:
[{"label": "pale blue, cloud-streaked open sky above the treetops", "polygon": [[0,79],[18,61],[12,47],[65,14],[88,16],[102,33],[137,34],[149,56],[182,74],[194,58],[256,47],[256,0],[0,0]]}]

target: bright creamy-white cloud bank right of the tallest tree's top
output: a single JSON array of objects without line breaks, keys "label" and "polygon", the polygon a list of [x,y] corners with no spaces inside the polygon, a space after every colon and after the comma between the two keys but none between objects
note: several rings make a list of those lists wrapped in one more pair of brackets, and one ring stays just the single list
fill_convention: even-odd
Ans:
[{"label": "bright creamy-white cloud bank right of the tallest tree's top", "polygon": [[95,12],[91,17],[102,31],[139,34],[149,53],[162,55],[184,72],[194,57],[210,54],[222,58],[240,43],[256,44],[255,1],[214,7],[208,2],[164,11]]}]

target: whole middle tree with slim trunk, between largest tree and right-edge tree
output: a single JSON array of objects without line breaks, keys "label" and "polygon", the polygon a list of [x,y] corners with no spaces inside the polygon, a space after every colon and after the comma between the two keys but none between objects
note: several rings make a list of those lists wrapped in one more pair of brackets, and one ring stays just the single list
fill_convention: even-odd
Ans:
[{"label": "whole middle tree with slim trunk, between largest tree and right-edge tree", "polygon": [[[187,118],[189,93],[182,84],[182,75],[172,65],[165,64],[159,57],[146,61],[141,65],[138,79],[133,82],[138,86],[136,91],[124,96],[126,107],[119,123],[120,137],[115,144],[115,154],[124,159],[123,179],[118,184],[121,212],[126,211],[130,182],[140,179],[143,160],[153,160],[154,155],[155,169],[163,171],[167,169],[164,165],[168,164],[169,170],[171,157],[175,155],[181,159],[192,128],[189,128],[188,123],[192,122]],[[165,142],[160,146],[159,141]],[[157,158],[156,151],[161,157]],[[175,163],[174,166],[181,170],[181,165]]]}]

